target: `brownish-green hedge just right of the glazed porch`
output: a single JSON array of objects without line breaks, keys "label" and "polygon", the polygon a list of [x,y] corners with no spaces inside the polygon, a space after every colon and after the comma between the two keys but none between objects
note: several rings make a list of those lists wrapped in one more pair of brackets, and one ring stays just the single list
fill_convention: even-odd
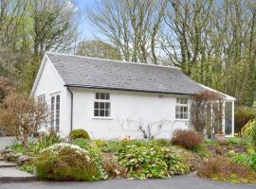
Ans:
[{"label": "brownish-green hedge just right of the glazed porch", "polygon": [[256,111],[248,107],[235,107],[234,118],[235,133],[239,133],[249,120],[256,118]]}]

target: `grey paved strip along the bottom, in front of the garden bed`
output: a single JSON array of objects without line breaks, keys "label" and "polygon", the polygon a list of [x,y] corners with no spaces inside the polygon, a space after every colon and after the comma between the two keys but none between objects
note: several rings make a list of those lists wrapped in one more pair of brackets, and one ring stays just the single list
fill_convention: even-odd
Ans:
[{"label": "grey paved strip along the bottom, in front of the garden bed", "polygon": [[232,184],[200,179],[190,174],[169,180],[106,180],[97,182],[9,182],[0,183],[1,189],[255,189],[256,184]]}]

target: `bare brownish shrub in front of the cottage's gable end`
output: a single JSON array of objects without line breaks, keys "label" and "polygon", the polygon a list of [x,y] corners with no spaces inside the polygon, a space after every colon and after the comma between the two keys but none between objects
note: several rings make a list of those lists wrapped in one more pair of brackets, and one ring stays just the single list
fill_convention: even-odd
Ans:
[{"label": "bare brownish shrub in front of the cottage's gable end", "polygon": [[0,122],[27,146],[28,135],[48,122],[46,104],[37,103],[27,94],[10,94],[4,100]]}]

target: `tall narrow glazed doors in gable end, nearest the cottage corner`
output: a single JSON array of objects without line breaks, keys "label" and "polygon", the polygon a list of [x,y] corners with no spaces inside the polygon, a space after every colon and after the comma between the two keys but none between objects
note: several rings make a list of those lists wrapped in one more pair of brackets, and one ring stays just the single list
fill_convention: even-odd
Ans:
[{"label": "tall narrow glazed doors in gable end, nearest the cottage corner", "polygon": [[61,117],[61,96],[60,94],[51,96],[50,98],[50,125],[59,132]]}]

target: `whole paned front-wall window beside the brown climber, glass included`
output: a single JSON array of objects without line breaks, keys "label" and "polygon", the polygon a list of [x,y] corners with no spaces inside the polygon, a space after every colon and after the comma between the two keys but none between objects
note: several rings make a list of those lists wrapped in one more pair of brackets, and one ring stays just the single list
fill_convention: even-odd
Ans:
[{"label": "whole paned front-wall window beside the brown climber, glass included", "polygon": [[175,106],[175,118],[176,119],[188,119],[189,115],[188,98],[176,98]]}]

